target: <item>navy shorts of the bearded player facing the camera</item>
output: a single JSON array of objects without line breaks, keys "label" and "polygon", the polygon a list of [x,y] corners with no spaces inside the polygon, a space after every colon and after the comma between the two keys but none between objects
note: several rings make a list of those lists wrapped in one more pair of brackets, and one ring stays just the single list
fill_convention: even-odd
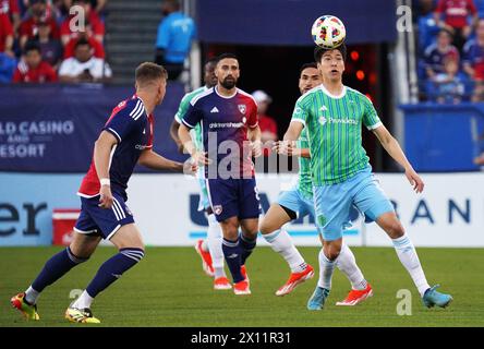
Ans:
[{"label": "navy shorts of the bearded player facing the camera", "polygon": [[208,179],[210,206],[217,221],[258,218],[262,212],[255,178]]}]

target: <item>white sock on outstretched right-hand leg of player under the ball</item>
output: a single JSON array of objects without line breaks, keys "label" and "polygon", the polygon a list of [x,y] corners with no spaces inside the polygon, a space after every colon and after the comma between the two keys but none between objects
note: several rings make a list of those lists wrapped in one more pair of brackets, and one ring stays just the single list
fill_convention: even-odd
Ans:
[{"label": "white sock on outstretched right-hand leg of player under the ball", "polygon": [[422,269],[422,265],[420,264],[419,256],[416,255],[412,241],[407,234],[404,234],[401,238],[391,239],[391,242],[394,243],[401,264],[403,264],[407,272],[409,272],[410,276],[412,277],[413,282],[419,289],[420,296],[423,297],[425,290],[427,290],[431,286],[425,278],[425,274]]}]

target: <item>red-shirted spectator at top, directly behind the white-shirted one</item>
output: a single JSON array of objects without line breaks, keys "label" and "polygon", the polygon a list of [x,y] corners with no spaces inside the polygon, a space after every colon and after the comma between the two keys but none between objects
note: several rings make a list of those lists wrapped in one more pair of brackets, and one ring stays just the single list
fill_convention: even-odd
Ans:
[{"label": "red-shirted spectator at top, directly behind the white-shirted one", "polygon": [[[87,0],[74,0],[73,5],[80,5],[84,9],[86,23],[89,23],[92,36],[102,45],[105,38],[105,24],[99,19],[96,11],[93,11],[90,3]],[[71,20],[74,19],[74,14],[69,15],[61,25],[61,40],[62,45],[68,45],[71,39],[76,39],[81,36],[81,32],[72,31]],[[86,23],[84,25],[86,26]]]}]

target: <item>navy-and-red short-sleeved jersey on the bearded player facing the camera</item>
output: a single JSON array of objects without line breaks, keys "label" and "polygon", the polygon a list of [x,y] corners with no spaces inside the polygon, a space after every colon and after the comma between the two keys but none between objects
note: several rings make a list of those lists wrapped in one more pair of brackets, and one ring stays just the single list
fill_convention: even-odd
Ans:
[{"label": "navy-and-red short-sleeved jersey on the bearded player facing the camera", "polygon": [[254,176],[247,128],[257,127],[257,104],[250,94],[237,88],[225,97],[211,87],[192,99],[182,122],[190,129],[202,125],[203,151],[213,161],[206,178]]}]

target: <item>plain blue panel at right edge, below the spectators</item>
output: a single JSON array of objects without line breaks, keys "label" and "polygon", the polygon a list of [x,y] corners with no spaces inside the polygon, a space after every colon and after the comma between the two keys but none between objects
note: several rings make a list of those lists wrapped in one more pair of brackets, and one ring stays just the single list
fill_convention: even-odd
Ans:
[{"label": "plain blue panel at right edge, below the spectators", "polygon": [[484,153],[484,104],[420,104],[404,112],[404,148],[418,171],[475,171]]}]

